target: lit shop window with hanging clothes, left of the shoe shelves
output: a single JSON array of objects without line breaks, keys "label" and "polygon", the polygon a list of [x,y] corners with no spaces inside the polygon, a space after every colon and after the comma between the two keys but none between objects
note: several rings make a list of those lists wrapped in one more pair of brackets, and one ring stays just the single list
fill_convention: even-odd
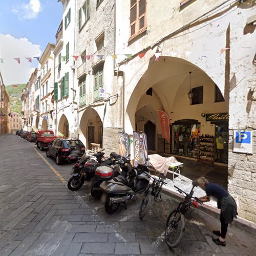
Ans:
[{"label": "lit shop window with hanging clothes, left of the shoe shelves", "polygon": [[200,124],[173,124],[173,154],[197,158]]}]

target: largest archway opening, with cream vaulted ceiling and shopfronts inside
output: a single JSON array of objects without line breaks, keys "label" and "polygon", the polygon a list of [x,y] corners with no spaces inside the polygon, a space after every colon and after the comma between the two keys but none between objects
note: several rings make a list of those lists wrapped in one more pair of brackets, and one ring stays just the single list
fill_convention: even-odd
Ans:
[{"label": "largest archway opening, with cream vaulted ceiling and shopfronts inside", "polygon": [[[189,98],[190,90],[193,97]],[[223,92],[224,88],[220,90],[193,63],[165,56],[158,61],[151,60],[148,69],[130,92],[131,97],[126,106],[125,131],[130,133],[137,129],[152,138],[156,129],[157,154],[191,159],[198,158],[200,136],[207,136],[212,138],[211,146],[214,148],[212,162],[227,163],[228,118],[223,118],[219,123],[220,119],[217,122],[209,117],[214,114],[228,117],[228,104],[223,98]],[[158,110],[164,111],[169,117],[170,143],[162,138]],[[223,150],[217,143],[220,135],[225,137],[220,139],[224,144]],[[154,149],[152,141],[148,142],[148,148]],[[207,158],[207,153],[200,152],[200,161],[204,158]],[[227,177],[226,166],[223,173]]]}]

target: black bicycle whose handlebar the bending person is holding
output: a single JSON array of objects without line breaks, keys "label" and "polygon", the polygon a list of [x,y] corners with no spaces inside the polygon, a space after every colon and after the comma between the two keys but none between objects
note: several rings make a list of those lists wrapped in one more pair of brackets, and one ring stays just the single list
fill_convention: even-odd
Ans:
[{"label": "black bicycle whose handlebar the bending person is holding", "polygon": [[177,188],[179,193],[184,196],[184,199],[182,202],[179,203],[178,207],[169,214],[165,225],[165,241],[167,245],[171,248],[178,246],[184,236],[184,215],[189,210],[190,206],[193,204],[195,207],[199,207],[199,204],[202,204],[202,202],[197,197],[193,197],[193,189],[195,185],[193,185],[189,194],[187,194],[185,191],[181,190],[177,186],[174,187]]}]

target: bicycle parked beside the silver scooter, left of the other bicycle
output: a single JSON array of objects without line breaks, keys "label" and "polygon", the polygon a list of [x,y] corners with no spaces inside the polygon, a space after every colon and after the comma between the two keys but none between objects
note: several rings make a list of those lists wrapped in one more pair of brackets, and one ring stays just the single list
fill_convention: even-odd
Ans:
[{"label": "bicycle parked beside the silver scooter, left of the other bicycle", "polygon": [[153,182],[145,190],[144,198],[140,204],[139,217],[141,220],[146,215],[148,205],[150,204],[151,196],[154,197],[154,200],[156,202],[157,202],[158,197],[160,197],[160,200],[162,202],[161,189],[162,189],[163,184],[167,184],[166,182],[164,182],[164,180],[161,177],[159,177],[159,179],[156,179],[156,178],[152,177],[151,175],[147,174],[147,176],[150,177],[153,180]]}]

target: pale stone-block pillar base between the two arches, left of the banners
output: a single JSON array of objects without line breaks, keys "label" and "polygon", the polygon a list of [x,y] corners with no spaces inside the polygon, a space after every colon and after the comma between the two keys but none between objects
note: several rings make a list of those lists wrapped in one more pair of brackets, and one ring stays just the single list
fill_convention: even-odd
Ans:
[{"label": "pale stone-block pillar base between the two arches, left of the banners", "polygon": [[103,128],[103,148],[106,155],[110,155],[111,152],[119,154],[118,132],[122,132],[122,128]]}]

